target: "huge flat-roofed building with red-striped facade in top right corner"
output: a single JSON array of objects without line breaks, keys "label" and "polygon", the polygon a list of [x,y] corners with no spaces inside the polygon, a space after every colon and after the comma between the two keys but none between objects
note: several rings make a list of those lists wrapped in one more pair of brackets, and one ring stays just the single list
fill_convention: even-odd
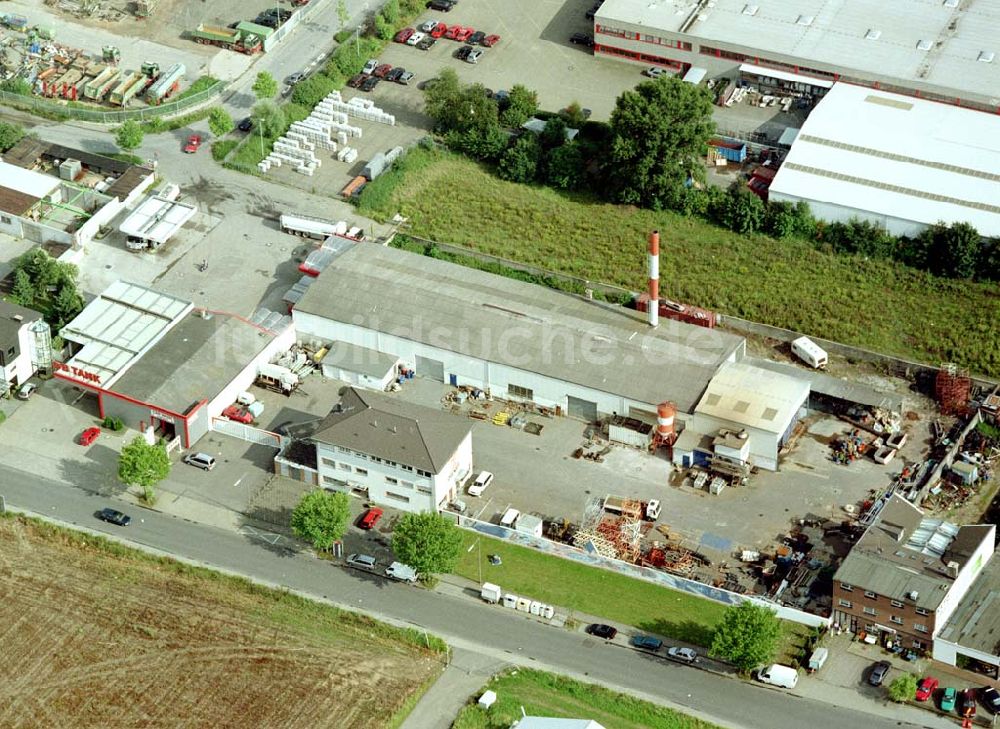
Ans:
[{"label": "huge flat-roofed building with red-striped facade in top right corner", "polygon": [[842,80],[996,111],[997,28],[1000,0],[607,0],[594,41],[599,55],[679,72],[714,59],[722,73],[790,75],[792,88]]}]

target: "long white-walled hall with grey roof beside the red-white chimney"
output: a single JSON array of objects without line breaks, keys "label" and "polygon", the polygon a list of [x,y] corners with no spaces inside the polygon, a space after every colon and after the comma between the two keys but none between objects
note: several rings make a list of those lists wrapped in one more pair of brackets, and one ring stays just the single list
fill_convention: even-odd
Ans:
[{"label": "long white-walled hall with grey roof beside the red-white chimney", "polygon": [[300,339],[397,357],[421,376],[536,402],[585,420],[691,413],[742,337],[643,317],[483,271],[382,246],[333,260],[293,310]]}]

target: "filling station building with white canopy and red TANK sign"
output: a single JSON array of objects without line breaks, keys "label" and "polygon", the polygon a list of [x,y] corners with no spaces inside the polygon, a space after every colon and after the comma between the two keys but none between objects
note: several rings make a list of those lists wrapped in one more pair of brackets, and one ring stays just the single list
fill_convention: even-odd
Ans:
[{"label": "filling station building with white canopy and red TANK sign", "polygon": [[97,396],[102,418],[179,438],[188,448],[254,382],[260,363],[294,343],[285,324],[282,331],[265,329],[117,281],[62,329],[71,356],[54,369]]}]

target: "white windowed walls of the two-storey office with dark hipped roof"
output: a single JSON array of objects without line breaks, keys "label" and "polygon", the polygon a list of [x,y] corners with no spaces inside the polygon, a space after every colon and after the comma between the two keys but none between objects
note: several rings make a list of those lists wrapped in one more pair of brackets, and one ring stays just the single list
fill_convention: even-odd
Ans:
[{"label": "white windowed walls of the two-storey office with dark hipped roof", "polygon": [[[472,472],[472,433],[455,450],[440,473],[420,472],[403,464],[316,444],[319,482],[323,488],[351,492],[363,489],[368,500],[404,511],[438,511],[453,499]],[[341,485],[346,484],[346,487]]]}]

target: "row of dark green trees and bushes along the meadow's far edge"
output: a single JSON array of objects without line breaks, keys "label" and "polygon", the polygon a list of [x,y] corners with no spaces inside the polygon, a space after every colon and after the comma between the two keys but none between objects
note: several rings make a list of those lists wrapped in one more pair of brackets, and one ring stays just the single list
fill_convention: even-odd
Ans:
[{"label": "row of dark green trees and bushes along the meadow's far edge", "polygon": [[[584,121],[577,104],[558,115],[541,113],[537,95],[523,86],[490,98],[480,84],[461,85],[450,69],[426,88],[425,108],[451,149],[495,165],[507,180],[589,190],[612,202],[697,215],[743,235],[804,238],[938,276],[1000,281],[1000,245],[967,223],[897,237],[867,221],[817,221],[805,203],[766,203],[740,181],[728,190],[706,185],[703,159],[715,133],[711,96],[673,77],[625,91],[608,124]],[[521,129],[532,115],[547,119],[537,136]],[[567,141],[567,128],[580,133]]]}]

